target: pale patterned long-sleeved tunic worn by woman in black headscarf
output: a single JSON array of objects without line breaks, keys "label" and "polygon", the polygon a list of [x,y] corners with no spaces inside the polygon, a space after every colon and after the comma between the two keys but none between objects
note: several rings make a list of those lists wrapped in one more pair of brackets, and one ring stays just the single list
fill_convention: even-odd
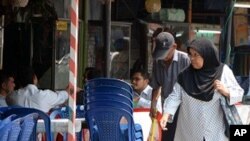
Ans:
[{"label": "pale patterned long-sleeved tunic worn by woman in black headscarf", "polygon": [[[230,98],[228,102],[235,104],[241,102],[243,89],[237,83],[231,69],[224,65],[221,82],[228,88]],[[164,101],[164,113],[174,115],[180,106],[175,141],[225,141],[225,125],[223,112],[220,106],[218,92],[213,99],[206,102],[189,96],[184,89],[176,83],[173,92]]]}]

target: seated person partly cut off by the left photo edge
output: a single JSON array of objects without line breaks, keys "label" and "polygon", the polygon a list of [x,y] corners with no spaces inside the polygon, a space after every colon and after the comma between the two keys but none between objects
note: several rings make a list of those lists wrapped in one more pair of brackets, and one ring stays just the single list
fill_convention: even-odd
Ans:
[{"label": "seated person partly cut off by the left photo edge", "polygon": [[0,107],[8,106],[6,103],[6,96],[14,91],[15,82],[14,76],[12,74],[8,74],[4,70],[0,71]]}]

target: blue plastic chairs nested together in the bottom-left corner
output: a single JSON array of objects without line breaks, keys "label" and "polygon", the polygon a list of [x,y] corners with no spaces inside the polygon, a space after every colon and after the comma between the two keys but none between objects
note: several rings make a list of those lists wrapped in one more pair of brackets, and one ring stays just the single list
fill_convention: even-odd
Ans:
[{"label": "blue plastic chairs nested together in the bottom-left corner", "polygon": [[36,125],[39,118],[45,121],[46,141],[51,141],[50,119],[46,113],[33,108],[0,107],[0,140],[36,140]]}]

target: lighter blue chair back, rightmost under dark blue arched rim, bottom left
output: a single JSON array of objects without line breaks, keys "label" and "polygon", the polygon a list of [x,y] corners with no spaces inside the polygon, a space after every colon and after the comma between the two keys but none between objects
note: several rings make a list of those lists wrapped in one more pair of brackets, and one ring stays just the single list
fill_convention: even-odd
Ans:
[{"label": "lighter blue chair back, rightmost under dark blue arched rim, bottom left", "polygon": [[36,123],[38,120],[38,113],[31,113],[23,117],[21,124],[21,133],[19,135],[19,141],[33,141],[36,140]]}]

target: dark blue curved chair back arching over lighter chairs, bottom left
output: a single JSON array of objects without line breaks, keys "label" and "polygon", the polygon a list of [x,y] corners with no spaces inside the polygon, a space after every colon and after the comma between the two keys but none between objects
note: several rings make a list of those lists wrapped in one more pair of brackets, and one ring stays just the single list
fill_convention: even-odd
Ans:
[{"label": "dark blue curved chair back arching over lighter chairs, bottom left", "polygon": [[[51,121],[50,121],[49,116],[43,111],[35,109],[35,108],[26,108],[26,107],[18,107],[18,106],[0,108],[0,111],[1,111],[1,118],[8,117],[9,115],[12,115],[12,114],[16,114],[18,117],[23,117],[31,113],[38,113],[39,118],[44,120],[45,131],[46,131],[46,141],[52,140]],[[34,131],[34,135],[33,135],[34,139],[36,138],[35,133],[36,131]]]}]

